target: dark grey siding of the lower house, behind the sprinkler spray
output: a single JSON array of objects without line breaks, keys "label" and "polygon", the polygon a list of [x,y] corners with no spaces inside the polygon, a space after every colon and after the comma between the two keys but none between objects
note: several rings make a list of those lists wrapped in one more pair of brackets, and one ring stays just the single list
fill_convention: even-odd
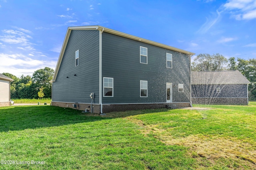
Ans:
[{"label": "dark grey siding of the lower house, behind the sprinkler spray", "polygon": [[199,84],[192,85],[191,90],[192,98],[247,98],[247,84]]}]

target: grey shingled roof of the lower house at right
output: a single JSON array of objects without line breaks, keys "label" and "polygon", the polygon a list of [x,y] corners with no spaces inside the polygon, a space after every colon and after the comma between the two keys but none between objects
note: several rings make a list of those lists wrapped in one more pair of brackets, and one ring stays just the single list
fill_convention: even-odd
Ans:
[{"label": "grey shingled roof of the lower house at right", "polygon": [[191,84],[250,84],[238,70],[192,71]]}]

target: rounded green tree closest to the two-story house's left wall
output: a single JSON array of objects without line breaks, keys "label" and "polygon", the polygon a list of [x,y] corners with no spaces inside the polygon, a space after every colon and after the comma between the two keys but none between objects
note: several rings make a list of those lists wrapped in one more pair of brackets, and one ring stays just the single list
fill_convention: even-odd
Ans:
[{"label": "rounded green tree closest to the two-story house's left wall", "polygon": [[54,70],[49,67],[41,68],[33,73],[32,80],[36,84],[37,88],[44,88],[44,95],[46,98],[52,97],[52,80]]}]

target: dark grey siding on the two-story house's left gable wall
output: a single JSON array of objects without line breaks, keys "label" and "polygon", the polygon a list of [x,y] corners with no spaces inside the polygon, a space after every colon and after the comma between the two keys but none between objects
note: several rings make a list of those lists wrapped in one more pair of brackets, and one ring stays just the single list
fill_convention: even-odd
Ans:
[{"label": "dark grey siding on the two-story house's left gable wall", "polygon": [[[75,66],[77,50],[79,65]],[[92,92],[94,103],[99,103],[99,31],[72,30],[52,84],[52,101],[91,103]]]}]

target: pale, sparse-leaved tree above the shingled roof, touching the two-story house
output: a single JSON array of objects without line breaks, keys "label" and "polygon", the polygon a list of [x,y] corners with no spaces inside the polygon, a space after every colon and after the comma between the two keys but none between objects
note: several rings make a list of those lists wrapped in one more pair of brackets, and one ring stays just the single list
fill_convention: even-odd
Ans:
[{"label": "pale, sparse-leaved tree above the shingled roof, touching the two-story house", "polygon": [[224,70],[228,59],[219,53],[199,54],[191,64],[193,71]]}]

